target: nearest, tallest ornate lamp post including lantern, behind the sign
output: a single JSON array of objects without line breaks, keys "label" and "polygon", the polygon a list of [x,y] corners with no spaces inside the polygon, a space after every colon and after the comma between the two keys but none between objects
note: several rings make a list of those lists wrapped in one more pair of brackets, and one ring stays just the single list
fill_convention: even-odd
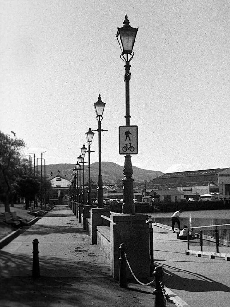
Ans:
[{"label": "nearest, tallest ornate lamp post including lantern, behind the sign", "polygon": [[[121,60],[125,62],[125,126],[130,125],[130,115],[129,115],[129,80],[130,80],[130,64],[134,52],[133,45],[137,35],[137,29],[132,28],[129,25],[129,20],[127,15],[125,15],[125,20],[123,22],[123,27],[117,28],[117,40],[121,48]],[[120,41],[121,44],[120,44]],[[125,155],[125,165],[123,169],[124,179],[123,181],[123,204],[122,212],[128,214],[134,214],[134,204],[133,204],[133,168],[131,163],[131,156],[129,154]]]}]

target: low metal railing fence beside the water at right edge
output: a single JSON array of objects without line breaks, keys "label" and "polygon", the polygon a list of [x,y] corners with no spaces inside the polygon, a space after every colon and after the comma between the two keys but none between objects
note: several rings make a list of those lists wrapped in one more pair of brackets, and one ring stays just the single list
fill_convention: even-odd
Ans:
[{"label": "low metal railing fence beside the water at right edge", "polygon": [[[216,252],[219,253],[219,248],[230,247],[230,224],[212,225],[203,227],[187,228],[191,235],[188,235],[188,250],[190,246],[200,246],[200,251],[203,247],[216,247]],[[229,250],[229,249],[228,249]]]}]

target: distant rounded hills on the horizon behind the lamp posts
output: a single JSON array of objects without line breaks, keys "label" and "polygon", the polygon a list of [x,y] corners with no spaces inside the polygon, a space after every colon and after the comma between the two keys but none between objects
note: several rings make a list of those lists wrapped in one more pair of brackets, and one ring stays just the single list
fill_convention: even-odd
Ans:
[{"label": "distant rounded hills on the horizon behind the lamp posts", "polygon": [[[53,172],[53,175],[59,170],[62,175],[66,175],[69,179],[71,178],[72,170],[75,167],[75,164],[48,164],[46,165],[46,177],[50,176],[50,173]],[[118,165],[113,162],[101,162],[101,172],[102,180],[104,185],[115,185],[121,184],[121,180],[124,178],[123,175],[123,166]],[[38,171],[41,172],[41,165],[38,166]],[[85,173],[85,182],[88,181],[88,164],[84,166]],[[163,173],[158,171],[151,171],[147,169],[139,169],[136,166],[133,166],[133,176],[134,186],[137,183],[144,183],[153,180],[158,176],[161,176]],[[44,175],[44,166],[43,166],[43,175]],[[90,176],[92,181],[97,183],[98,181],[98,162],[92,163],[90,165]]]}]

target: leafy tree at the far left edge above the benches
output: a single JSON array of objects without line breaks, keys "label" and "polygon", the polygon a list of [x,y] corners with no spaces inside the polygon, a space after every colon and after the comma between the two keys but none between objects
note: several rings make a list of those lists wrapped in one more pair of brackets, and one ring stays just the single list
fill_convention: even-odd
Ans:
[{"label": "leafy tree at the far left edge above the benches", "polygon": [[0,198],[5,211],[10,211],[10,194],[14,192],[14,183],[22,175],[23,159],[20,149],[25,147],[22,139],[10,138],[0,131]]}]

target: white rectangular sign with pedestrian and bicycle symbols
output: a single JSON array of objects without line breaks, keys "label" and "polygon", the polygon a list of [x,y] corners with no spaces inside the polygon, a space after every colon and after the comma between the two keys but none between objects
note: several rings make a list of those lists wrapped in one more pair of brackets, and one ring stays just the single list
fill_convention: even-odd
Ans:
[{"label": "white rectangular sign with pedestrian and bicycle symbols", "polygon": [[137,126],[119,126],[119,154],[137,153]]}]

